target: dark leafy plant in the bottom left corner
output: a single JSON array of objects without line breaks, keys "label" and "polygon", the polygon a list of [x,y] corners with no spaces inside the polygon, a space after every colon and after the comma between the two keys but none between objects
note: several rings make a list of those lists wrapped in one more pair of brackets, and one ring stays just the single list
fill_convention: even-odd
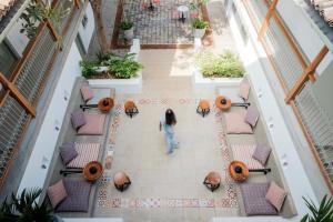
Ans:
[{"label": "dark leafy plant in the bottom left corner", "polygon": [[44,200],[38,204],[38,196],[41,189],[30,191],[23,190],[20,195],[11,195],[11,200],[4,200],[0,206],[0,221],[6,222],[53,222],[52,209]]}]

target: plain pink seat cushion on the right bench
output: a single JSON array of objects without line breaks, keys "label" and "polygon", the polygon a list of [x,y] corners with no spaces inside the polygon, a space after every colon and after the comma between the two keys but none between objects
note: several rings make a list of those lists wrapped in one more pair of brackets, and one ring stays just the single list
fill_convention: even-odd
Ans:
[{"label": "plain pink seat cushion on the right bench", "polygon": [[[240,110],[236,112],[225,113],[226,133],[229,134],[252,134],[252,128],[245,119],[246,111]],[[83,125],[84,127],[84,125]]]}]

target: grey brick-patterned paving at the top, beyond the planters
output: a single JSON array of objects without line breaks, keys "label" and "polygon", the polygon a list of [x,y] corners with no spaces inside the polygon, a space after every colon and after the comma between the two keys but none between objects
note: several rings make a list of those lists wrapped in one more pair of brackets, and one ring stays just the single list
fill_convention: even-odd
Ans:
[{"label": "grey brick-patterned paving at the top, beyond the planters", "polygon": [[[189,6],[189,0],[163,0],[154,7],[153,11],[143,10],[142,2],[124,0],[122,20],[134,22],[134,37],[142,44],[175,44],[193,43],[193,30],[189,13],[185,13],[185,22],[172,19],[172,11],[178,6]],[[119,44],[123,43],[120,34]]]}]

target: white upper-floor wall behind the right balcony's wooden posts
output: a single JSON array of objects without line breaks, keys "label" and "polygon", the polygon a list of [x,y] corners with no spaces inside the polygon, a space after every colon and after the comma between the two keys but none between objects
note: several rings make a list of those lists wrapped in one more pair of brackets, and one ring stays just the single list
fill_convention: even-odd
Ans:
[{"label": "white upper-floor wall behind the right balcony's wooden posts", "polygon": [[[291,0],[280,0],[276,4],[276,9],[304,53],[312,61],[324,43],[309,20],[306,20],[304,12],[301,11],[303,9]],[[316,73],[321,74],[332,60],[332,53],[327,53],[319,65]]]}]

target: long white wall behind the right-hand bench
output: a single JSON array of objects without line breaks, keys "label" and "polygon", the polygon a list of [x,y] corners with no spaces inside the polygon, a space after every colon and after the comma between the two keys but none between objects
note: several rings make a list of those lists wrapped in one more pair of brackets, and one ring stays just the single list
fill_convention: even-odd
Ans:
[{"label": "long white wall behind the right-hand bench", "polygon": [[[230,18],[231,30],[234,34],[236,46],[239,48],[241,59],[244,62],[246,73],[252,83],[251,90],[256,94],[259,100],[259,109],[261,110],[262,117],[266,129],[269,129],[269,135],[274,147],[274,157],[278,160],[278,165],[282,170],[285,179],[285,183],[290,189],[290,194],[294,201],[297,216],[292,219],[272,219],[271,216],[260,216],[261,221],[300,221],[300,218],[307,213],[307,208],[304,204],[302,196],[311,198],[315,203],[317,199],[314,190],[310,183],[306,171],[304,170],[301,159],[296,151],[296,144],[293,141],[293,137],[290,134],[287,129],[286,119],[280,110],[279,103],[275,99],[274,92],[266,79],[265,72],[273,70],[265,70],[262,67],[261,60],[266,59],[266,54],[256,39],[256,32],[254,31],[251,20],[248,17],[246,10],[242,3],[236,3],[239,12],[243,17],[242,21],[249,29],[249,36],[251,40],[244,46],[240,32],[238,30],[234,18]],[[300,185],[302,189],[300,189]],[[259,221],[259,218],[251,216],[244,220],[238,221]],[[228,221],[225,219],[215,219],[213,221]]]}]

